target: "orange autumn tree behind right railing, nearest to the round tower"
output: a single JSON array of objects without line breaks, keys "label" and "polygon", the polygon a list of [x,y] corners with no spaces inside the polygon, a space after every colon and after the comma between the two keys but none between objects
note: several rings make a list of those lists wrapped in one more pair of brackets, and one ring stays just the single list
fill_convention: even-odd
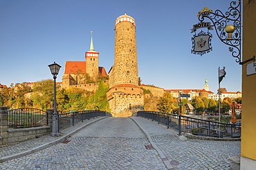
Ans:
[{"label": "orange autumn tree behind right railing, nearest to the round tower", "polygon": [[165,92],[163,97],[158,100],[156,104],[156,108],[159,111],[163,111],[165,113],[171,113],[173,109],[174,100],[172,99],[172,94]]}]

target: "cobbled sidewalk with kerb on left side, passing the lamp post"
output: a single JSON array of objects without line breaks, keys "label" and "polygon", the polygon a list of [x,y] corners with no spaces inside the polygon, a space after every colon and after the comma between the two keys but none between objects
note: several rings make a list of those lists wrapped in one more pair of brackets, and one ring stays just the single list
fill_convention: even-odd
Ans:
[{"label": "cobbled sidewalk with kerb on left side, passing the lamp post", "polygon": [[83,129],[102,118],[106,117],[91,118],[90,120],[85,120],[83,123],[81,122],[75,126],[63,129],[61,130],[61,136],[59,137],[53,137],[51,134],[47,134],[40,136],[39,138],[33,138],[13,145],[8,145],[6,147],[0,147],[0,162],[12,160],[21,156],[27,156],[30,153],[35,153],[36,151],[40,151],[57,143],[63,142],[66,138],[69,138],[77,131],[80,131],[80,129]]}]

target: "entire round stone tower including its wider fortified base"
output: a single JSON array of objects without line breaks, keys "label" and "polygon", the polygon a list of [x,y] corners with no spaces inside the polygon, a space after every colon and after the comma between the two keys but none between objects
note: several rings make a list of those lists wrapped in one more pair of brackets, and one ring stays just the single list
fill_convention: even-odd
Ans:
[{"label": "entire round stone tower including its wider fortified base", "polygon": [[115,28],[115,61],[109,71],[107,97],[111,113],[127,117],[144,106],[143,89],[138,86],[136,23],[124,14],[116,19]]}]

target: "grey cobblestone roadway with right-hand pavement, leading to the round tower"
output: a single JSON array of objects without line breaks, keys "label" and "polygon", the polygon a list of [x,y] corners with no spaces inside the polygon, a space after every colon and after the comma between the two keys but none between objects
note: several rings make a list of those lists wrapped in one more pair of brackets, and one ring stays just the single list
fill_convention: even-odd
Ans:
[{"label": "grey cobblestone roadway with right-hand pavement, leading to the round tower", "polygon": [[2,162],[0,169],[167,169],[145,134],[172,169],[230,169],[228,157],[240,153],[239,141],[181,140],[150,120],[132,118],[145,133],[131,118],[104,118],[62,143]]}]

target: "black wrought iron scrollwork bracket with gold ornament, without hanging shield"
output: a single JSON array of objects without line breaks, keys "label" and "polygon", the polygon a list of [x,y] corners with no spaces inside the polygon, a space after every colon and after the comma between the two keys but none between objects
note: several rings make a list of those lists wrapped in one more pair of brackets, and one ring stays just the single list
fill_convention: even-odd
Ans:
[{"label": "black wrought iron scrollwork bracket with gold ornament, without hanging shield", "polygon": [[[225,13],[220,10],[213,12],[205,7],[197,14],[197,17],[202,25],[205,25],[203,22],[205,18],[210,19],[213,23],[210,26],[214,27],[221,42],[230,46],[228,50],[236,58],[235,61],[239,64],[246,63],[246,61],[241,62],[241,0],[231,1]],[[208,28],[208,30],[212,29]]]}]

